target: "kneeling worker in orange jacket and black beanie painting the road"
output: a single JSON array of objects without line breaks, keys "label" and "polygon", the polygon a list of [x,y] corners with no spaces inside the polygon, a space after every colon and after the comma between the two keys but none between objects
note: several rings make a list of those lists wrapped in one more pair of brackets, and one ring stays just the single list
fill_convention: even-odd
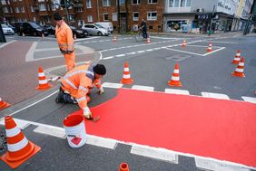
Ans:
[{"label": "kneeling worker in orange jacket and black beanie painting the road", "polygon": [[93,119],[92,113],[87,106],[90,101],[90,94],[94,85],[97,87],[99,94],[103,94],[104,90],[101,84],[101,78],[106,73],[103,64],[84,64],[68,71],[61,80],[60,92],[56,98],[56,102],[78,103],[83,109],[86,119]]}]

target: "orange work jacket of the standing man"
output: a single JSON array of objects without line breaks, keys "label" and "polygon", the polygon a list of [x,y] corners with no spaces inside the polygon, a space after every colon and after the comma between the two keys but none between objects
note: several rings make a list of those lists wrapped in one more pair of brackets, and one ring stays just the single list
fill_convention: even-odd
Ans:
[{"label": "orange work jacket of the standing man", "polygon": [[55,27],[55,35],[62,53],[70,54],[74,52],[73,33],[70,27],[64,23],[64,21],[60,27]]}]

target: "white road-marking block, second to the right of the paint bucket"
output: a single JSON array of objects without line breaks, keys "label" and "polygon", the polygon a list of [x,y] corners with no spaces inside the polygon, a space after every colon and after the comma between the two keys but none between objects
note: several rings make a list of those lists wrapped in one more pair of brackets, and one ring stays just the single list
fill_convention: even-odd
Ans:
[{"label": "white road-marking block, second to the right of the paint bucket", "polygon": [[139,155],[143,157],[152,157],[156,159],[161,159],[164,161],[172,162],[178,164],[178,156],[172,151],[160,147],[147,147],[142,145],[134,144],[131,148],[131,153],[134,155]]}]

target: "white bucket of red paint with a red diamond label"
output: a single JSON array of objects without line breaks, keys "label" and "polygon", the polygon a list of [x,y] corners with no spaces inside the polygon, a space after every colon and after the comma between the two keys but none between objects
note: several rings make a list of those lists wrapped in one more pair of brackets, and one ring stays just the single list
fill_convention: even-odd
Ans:
[{"label": "white bucket of red paint with a red diamond label", "polygon": [[64,129],[70,147],[82,147],[86,142],[83,115],[69,115],[64,119]]}]

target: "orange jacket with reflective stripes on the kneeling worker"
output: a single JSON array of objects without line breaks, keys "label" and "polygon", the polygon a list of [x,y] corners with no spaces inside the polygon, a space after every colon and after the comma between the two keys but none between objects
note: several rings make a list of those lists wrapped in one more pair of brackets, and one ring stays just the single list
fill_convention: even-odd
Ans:
[{"label": "orange jacket with reflective stripes on the kneeling worker", "polygon": [[62,89],[78,102],[81,109],[87,107],[86,94],[94,85],[100,89],[102,83],[100,79],[95,79],[94,65],[84,64],[68,71],[62,79]]}]

